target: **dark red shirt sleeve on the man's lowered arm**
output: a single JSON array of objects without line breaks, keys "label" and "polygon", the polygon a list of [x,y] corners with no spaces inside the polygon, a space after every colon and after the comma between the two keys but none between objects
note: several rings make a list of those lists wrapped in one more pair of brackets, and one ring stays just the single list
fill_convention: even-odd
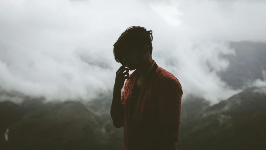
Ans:
[{"label": "dark red shirt sleeve on the man's lowered arm", "polygon": [[165,79],[158,89],[159,122],[162,139],[177,142],[179,137],[181,97],[183,90],[177,79]]}]

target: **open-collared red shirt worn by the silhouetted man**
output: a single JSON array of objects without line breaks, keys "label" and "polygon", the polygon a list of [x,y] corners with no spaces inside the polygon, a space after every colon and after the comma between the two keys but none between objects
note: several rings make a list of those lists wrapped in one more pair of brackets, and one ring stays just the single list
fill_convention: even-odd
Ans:
[{"label": "open-collared red shirt worn by the silhouetted man", "polygon": [[181,97],[183,90],[178,79],[153,61],[137,98],[132,119],[129,107],[133,85],[139,76],[135,70],[126,80],[121,101],[124,108],[123,150],[167,150],[160,147],[162,140],[178,141]]}]

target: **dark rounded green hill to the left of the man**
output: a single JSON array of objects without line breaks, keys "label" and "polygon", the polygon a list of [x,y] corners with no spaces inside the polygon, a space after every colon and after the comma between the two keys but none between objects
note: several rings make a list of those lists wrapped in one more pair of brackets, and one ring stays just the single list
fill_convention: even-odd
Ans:
[{"label": "dark rounded green hill to the left of the man", "polygon": [[4,114],[0,118],[1,135],[9,128],[8,140],[1,139],[0,149],[112,150],[117,147],[112,135],[98,122],[101,118],[80,102],[41,103],[35,99],[20,105],[2,102],[0,108]]}]

